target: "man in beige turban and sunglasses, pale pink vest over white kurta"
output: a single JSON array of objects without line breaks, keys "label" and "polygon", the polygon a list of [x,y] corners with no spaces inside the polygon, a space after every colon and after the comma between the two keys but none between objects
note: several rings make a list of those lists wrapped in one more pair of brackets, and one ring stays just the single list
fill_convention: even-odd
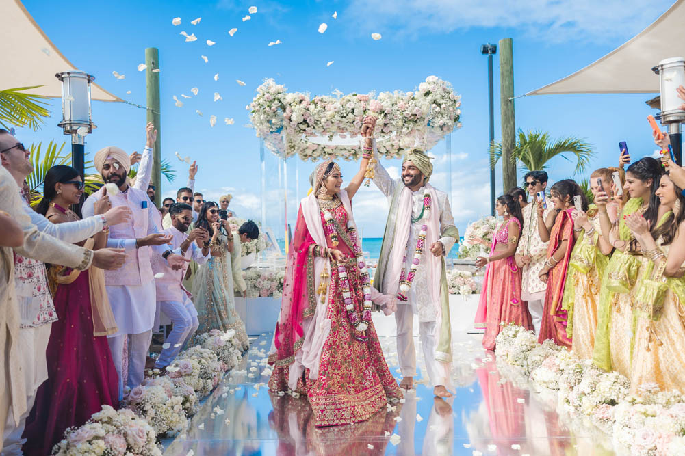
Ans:
[{"label": "man in beige turban and sunglasses, pale pink vest over white kurta", "polygon": [[[156,131],[154,132],[156,137]],[[154,144],[148,127],[148,147]],[[123,397],[123,386],[135,388],[142,382],[145,372],[145,361],[152,339],[152,328],[155,320],[156,298],[150,255],[161,255],[174,269],[182,268],[186,260],[169,248],[171,236],[158,231],[147,193],[129,186],[126,182],[128,173],[128,155],[119,147],[105,147],[95,154],[95,168],[102,175],[106,184],[114,183],[118,192],[107,192],[112,207],[125,205],[133,216],[127,223],[110,229],[108,246],[125,249],[126,261],[116,271],[105,271],[105,285],[110,297],[110,305],[119,332],[108,335],[114,367],[119,375],[119,398]],[[106,187],[101,188],[86,199],[83,207],[84,216],[94,212],[95,202],[105,195]],[[151,251],[152,249],[152,251]],[[128,378],[122,377],[123,344],[125,336],[129,337]]]}]

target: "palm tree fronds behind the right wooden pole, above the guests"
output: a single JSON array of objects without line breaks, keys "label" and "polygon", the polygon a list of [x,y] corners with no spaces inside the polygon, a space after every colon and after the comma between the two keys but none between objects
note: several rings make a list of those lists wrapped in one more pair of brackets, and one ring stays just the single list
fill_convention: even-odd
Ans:
[{"label": "palm tree fronds behind the right wooden pole, above the guests", "polygon": [[[552,141],[549,138],[549,133],[546,131],[545,133],[539,130],[525,133],[523,130],[519,130],[516,146],[512,153],[512,160],[518,160],[529,171],[537,171],[547,168],[549,160],[557,155],[569,160],[564,155],[566,153],[575,155],[574,174],[582,173],[590,164],[590,158],[595,155],[591,144],[575,136]],[[495,168],[495,164],[497,164],[501,156],[501,142],[495,142],[490,147],[490,167]]]}]

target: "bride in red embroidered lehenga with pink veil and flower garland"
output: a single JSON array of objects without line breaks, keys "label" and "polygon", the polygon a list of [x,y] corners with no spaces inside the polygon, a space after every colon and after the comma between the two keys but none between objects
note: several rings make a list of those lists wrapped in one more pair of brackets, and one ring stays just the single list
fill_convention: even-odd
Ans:
[{"label": "bride in red embroidered lehenga with pink veil and flower garland", "polygon": [[367,420],[402,397],[371,321],[371,301],[388,313],[394,298],[371,288],[352,216],[363,180],[362,170],[340,190],[340,167],[330,160],[312,173],[269,355],[269,388],[308,396],[317,427]]}]

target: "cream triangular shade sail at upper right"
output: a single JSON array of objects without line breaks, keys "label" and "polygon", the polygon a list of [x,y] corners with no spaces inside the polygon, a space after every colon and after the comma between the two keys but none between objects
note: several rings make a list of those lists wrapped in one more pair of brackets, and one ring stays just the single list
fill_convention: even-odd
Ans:
[{"label": "cream triangular shade sail at upper right", "polygon": [[677,0],[649,27],[593,64],[526,95],[654,93],[660,60],[685,57],[685,1]]}]

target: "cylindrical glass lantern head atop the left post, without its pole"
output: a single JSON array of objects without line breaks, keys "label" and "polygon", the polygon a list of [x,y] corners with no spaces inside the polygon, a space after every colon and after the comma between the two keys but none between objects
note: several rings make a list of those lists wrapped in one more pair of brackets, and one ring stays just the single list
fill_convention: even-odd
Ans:
[{"label": "cylindrical glass lantern head atop the left post, without its pole", "polygon": [[[95,125],[90,118],[90,83],[95,77],[83,71],[65,71],[55,76],[62,81],[62,122],[58,127],[64,129],[65,135],[92,133]],[[81,127],[85,129],[79,131]]]}]

